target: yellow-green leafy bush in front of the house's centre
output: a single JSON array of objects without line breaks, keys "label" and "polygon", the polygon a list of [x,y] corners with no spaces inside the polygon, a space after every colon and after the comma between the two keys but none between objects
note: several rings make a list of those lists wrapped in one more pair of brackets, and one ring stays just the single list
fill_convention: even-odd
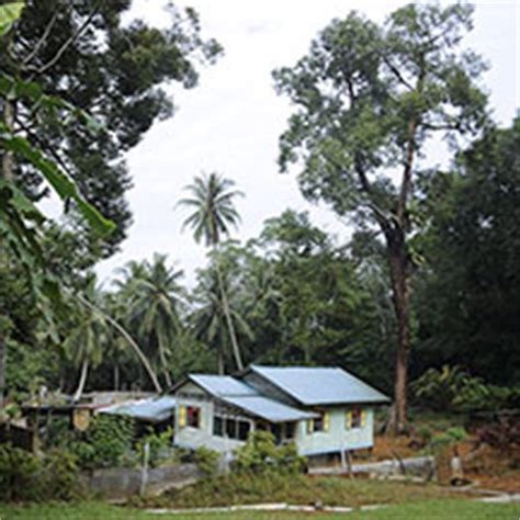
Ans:
[{"label": "yellow-green leafy bush in front of the house's centre", "polygon": [[305,459],[297,453],[296,445],[276,445],[270,431],[252,431],[246,444],[235,452],[234,465],[238,472],[301,473]]}]

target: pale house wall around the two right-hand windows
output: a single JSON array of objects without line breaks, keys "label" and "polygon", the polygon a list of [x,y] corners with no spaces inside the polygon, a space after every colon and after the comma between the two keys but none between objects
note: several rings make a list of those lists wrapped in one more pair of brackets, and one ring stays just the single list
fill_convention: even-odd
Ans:
[{"label": "pale house wall around the two right-hand windows", "polygon": [[362,428],[346,428],[347,406],[329,407],[330,414],[328,431],[307,432],[307,421],[299,421],[296,432],[296,444],[301,455],[332,453],[343,450],[361,450],[374,444],[374,412],[366,411],[365,423]]}]

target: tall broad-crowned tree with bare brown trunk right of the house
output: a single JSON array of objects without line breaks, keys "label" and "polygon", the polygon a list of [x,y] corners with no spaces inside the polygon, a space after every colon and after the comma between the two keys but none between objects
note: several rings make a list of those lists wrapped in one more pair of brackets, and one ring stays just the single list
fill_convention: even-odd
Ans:
[{"label": "tall broad-crowned tree with bare brown trunk right of the house", "polygon": [[279,91],[297,106],[280,139],[282,171],[302,161],[307,199],[383,237],[398,326],[394,431],[407,422],[419,159],[433,135],[456,144],[486,120],[486,97],[475,84],[484,65],[457,52],[472,11],[460,3],[409,4],[383,26],[351,13],[334,20],[295,67],[274,72]]}]

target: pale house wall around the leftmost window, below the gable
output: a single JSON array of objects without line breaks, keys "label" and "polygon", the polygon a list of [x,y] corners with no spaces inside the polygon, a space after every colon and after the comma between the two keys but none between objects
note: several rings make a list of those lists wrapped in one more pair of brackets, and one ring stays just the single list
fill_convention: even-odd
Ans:
[{"label": "pale house wall around the leftmost window, below the gable", "polygon": [[[176,393],[176,445],[191,450],[196,450],[197,448],[204,446],[221,453],[231,452],[233,450],[244,445],[242,441],[213,434],[215,400],[197,385],[188,382]],[[185,426],[183,428],[179,427],[181,406],[197,406],[201,408],[200,428],[192,428],[190,426]],[[242,420],[250,420],[247,417],[236,414],[233,414],[233,417],[237,417]],[[251,421],[251,429],[252,428],[253,425]]]}]

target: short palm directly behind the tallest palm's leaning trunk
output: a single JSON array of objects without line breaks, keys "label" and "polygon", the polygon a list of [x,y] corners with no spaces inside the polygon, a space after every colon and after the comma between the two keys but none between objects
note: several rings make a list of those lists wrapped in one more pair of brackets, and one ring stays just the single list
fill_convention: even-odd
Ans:
[{"label": "short palm directly behind the tallest palm's leaning trunk", "polygon": [[[227,318],[224,310],[223,291],[216,265],[199,271],[199,284],[194,290],[194,301],[197,305],[191,316],[194,336],[217,351],[218,373],[224,374],[225,351],[229,343],[230,335],[227,328]],[[233,298],[234,287],[230,286],[229,276],[223,276],[225,294]],[[233,321],[240,332],[252,339],[252,332],[235,306],[229,306]],[[227,334],[226,334],[227,332]]]}]

